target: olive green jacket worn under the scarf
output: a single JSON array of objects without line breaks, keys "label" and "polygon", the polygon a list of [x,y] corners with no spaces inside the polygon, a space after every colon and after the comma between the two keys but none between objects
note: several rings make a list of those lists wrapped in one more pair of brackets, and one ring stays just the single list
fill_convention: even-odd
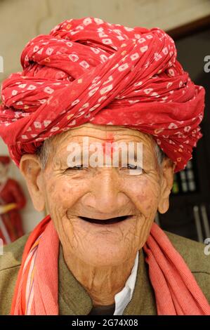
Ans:
[{"label": "olive green jacket worn under the scarf", "polygon": [[[197,283],[210,303],[210,256],[204,253],[204,244],[166,232],[175,249],[183,256]],[[25,235],[4,247],[0,256],[0,315],[8,315],[15,281],[20,268]],[[150,283],[143,249],[139,251],[138,272],[133,296],[123,315],[157,315],[155,294]],[[67,268],[60,244],[58,303],[60,315],[88,315],[93,304],[83,286]]]}]

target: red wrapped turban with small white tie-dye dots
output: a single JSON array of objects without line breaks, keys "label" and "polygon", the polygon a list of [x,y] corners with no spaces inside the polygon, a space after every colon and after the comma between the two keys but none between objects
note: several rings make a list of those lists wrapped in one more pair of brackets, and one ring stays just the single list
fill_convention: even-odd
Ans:
[{"label": "red wrapped turban with small white tie-dye dots", "polygon": [[202,137],[204,88],[176,60],[158,27],[124,27],[99,18],[65,20],[22,51],[23,71],[2,84],[0,136],[15,164],[42,141],[91,121],[135,128],[176,163]]}]

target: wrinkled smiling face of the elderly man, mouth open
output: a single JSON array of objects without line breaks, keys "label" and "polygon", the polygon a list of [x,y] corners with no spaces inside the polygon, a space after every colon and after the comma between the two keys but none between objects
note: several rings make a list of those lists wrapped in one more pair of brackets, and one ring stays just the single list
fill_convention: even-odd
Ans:
[{"label": "wrinkled smiling face of the elderly man, mouth open", "polygon": [[[120,164],[69,168],[67,146],[79,143],[82,147],[84,137],[89,143],[101,145],[110,140],[143,143],[143,173],[131,175]],[[154,140],[139,131],[93,124],[73,128],[56,140],[55,153],[43,173],[43,189],[48,212],[66,251],[90,265],[117,265],[145,244],[161,191],[154,147]],[[121,216],[127,218],[111,223],[111,218]]]}]

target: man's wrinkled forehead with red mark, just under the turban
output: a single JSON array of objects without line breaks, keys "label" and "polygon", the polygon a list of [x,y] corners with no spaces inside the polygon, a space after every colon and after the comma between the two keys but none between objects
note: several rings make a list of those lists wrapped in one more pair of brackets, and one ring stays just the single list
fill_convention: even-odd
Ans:
[{"label": "man's wrinkled forehead with red mark, just under the turban", "polygon": [[[86,145],[86,138],[88,142]],[[109,147],[113,145],[113,149]],[[113,152],[119,150],[120,156],[123,154],[138,154],[138,159],[143,159],[144,166],[157,166],[157,157],[155,156],[155,140],[152,136],[142,133],[136,129],[126,126],[96,125],[91,123],[82,124],[69,131],[58,134],[53,138],[53,164],[65,162],[70,151],[76,150],[83,152],[89,150],[90,145],[100,145],[100,151],[109,154],[112,158]],[[72,149],[73,147],[73,149]],[[91,153],[94,152],[91,148]],[[88,152],[89,156],[90,153]]]}]

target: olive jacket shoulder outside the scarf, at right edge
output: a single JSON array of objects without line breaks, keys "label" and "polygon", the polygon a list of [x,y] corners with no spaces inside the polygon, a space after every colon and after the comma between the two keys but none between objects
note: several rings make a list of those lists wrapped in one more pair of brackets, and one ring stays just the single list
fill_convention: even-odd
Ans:
[{"label": "olive jacket shoulder outside the scarf, at right edge", "polygon": [[194,275],[197,284],[210,303],[210,254],[206,253],[206,245],[165,232],[176,251],[181,254],[185,263]]}]

